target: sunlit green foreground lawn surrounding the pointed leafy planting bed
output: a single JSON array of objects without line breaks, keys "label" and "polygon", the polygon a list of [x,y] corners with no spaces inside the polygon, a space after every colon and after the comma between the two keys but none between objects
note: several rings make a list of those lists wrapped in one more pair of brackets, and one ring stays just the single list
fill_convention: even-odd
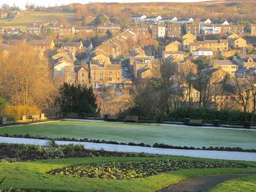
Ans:
[{"label": "sunlit green foreground lawn surrounding the pointed leafy planting bed", "polygon": [[[184,169],[162,173],[146,178],[131,180],[100,180],[55,176],[47,174],[51,169],[78,164],[100,163],[108,161],[140,161],[156,159],[191,159],[214,161],[202,158],[184,158],[176,156],[154,158],[67,158],[17,163],[0,163],[0,177],[6,177],[1,188],[21,188],[41,191],[156,191],[172,183],[178,183],[192,177],[209,174],[255,173],[256,168],[249,169]],[[238,162],[238,161],[236,161]],[[241,161],[240,161],[241,163]],[[255,162],[243,162],[256,166]]]}]

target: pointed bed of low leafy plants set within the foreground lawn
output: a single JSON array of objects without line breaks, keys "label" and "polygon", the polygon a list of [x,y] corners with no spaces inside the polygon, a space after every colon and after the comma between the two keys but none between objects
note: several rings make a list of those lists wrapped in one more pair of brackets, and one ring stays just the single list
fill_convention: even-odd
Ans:
[{"label": "pointed bed of low leafy plants set within the foreground lawn", "polygon": [[108,162],[102,164],[85,164],[80,166],[68,166],[63,169],[55,169],[49,174],[67,175],[69,177],[89,177],[105,180],[124,180],[139,177],[148,177],[162,172],[170,172],[179,169],[209,169],[209,168],[250,168],[246,164],[233,162],[211,161],[126,161]]}]

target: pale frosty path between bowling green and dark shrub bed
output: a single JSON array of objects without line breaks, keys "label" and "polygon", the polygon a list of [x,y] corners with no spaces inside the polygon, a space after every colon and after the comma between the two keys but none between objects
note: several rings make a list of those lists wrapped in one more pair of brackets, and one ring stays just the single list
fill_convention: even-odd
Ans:
[{"label": "pale frosty path between bowling green and dark shrub bed", "polygon": [[[1,142],[29,144],[29,145],[46,145],[48,140],[0,137],[0,143]],[[112,145],[112,144],[92,143],[92,142],[56,141],[56,143],[59,145],[81,144],[81,145],[84,145],[86,148],[93,149],[93,150],[104,149],[107,151],[117,151],[117,152],[151,153],[151,154],[159,154],[159,155],[188,156],[188,157],[195,157],[195,158],[215,158],[215,159],[225,159],[225,160],[256,161],[256,153],[246,153],[246,152],[162,149],[162,148],[156,148],[156,147]]]}]

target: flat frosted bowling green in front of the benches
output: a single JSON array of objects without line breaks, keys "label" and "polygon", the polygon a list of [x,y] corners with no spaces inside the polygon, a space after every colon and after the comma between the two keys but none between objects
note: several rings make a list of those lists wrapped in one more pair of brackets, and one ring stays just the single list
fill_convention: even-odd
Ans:
[{"label": "flat frosted bowling green in front of the benches", "polygon": [[0,134],[29,134],[50,138],[105,139],[116,142],[164,143],[192,147],[256,148],[256,131],[178,126],[150,126],[135,123],[93,123],[57,121],[0,128]]}]

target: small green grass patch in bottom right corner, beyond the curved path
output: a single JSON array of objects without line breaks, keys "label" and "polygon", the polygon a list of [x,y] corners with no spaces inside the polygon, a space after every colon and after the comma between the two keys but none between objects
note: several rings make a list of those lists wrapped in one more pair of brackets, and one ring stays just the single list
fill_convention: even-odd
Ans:
[{"label": "small green grass patch in bottom right corner, beyond the curved path", "polygon": [[256,176],[238,177],[234,180],[228,180],[217,185],[211,192],[255,192],[256,191]]}]

